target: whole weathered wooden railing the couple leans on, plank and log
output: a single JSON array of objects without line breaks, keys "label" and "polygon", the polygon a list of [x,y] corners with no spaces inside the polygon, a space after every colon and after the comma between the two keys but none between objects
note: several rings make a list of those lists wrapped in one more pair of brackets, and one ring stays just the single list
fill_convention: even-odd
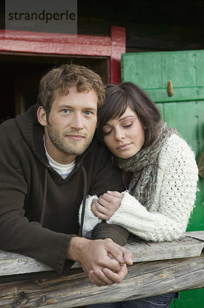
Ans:
[{"label": "whole weathered wooden railing the couple leans on, plank and log", "polygon": [[60,276],[36,260],[0,251],[0,307],[67,308],[204,287],[204,231],[172,242],[130,240],[132,266],[120,284],[97,287],[80,267]]}]

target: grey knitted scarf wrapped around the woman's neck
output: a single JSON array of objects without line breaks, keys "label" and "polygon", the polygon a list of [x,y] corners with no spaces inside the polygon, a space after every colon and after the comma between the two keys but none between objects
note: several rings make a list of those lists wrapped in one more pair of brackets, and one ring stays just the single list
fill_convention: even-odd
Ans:
[{"label": "grey knitted scarf wrapped around the woman's neck", "polygon": [[167,127],[163,121],[158,125],[158,135],[156,140],[147,148],[142,148],[134,156],[122,159],[116,158],[116,164],[119,168],[132,172],[129,184],[129,192],[143,206],[149,210],[152,198],[156,189],[156,178],[158,170],[158,156],[161,149],[171,134],[179,136],[175,128]]}]

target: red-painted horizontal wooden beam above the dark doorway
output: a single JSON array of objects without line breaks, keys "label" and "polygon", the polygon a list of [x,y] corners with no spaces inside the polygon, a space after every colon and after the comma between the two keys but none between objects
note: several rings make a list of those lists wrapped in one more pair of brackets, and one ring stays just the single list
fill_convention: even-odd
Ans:
[{"label": "red-painted horizontal wooden beam above the dark doorway", "polygon": [[0,29],[0,50],[74,55],[111,56],[111,38]]}]

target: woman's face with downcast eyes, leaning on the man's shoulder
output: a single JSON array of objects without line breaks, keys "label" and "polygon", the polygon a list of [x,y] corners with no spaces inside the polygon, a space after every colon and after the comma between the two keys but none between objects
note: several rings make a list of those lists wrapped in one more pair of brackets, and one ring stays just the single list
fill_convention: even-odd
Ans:
[{"label": "woman's face with downcast eyes, leaning on the man's shoulder", "polygon": [[109,150],[124,159],[139,152],[145,141],[143,127],[130,107],[127,107],[120,118],[109,120],[103,126],[103,136]]}]

